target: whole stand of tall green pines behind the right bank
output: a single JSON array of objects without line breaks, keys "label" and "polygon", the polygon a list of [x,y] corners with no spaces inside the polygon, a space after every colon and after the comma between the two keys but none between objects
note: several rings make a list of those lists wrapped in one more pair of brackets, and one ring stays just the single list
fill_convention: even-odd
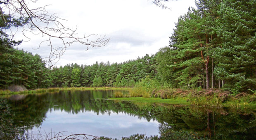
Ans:
[{"label": "whole stand of tall green pines behind the right bank", "polygon": [[161,82],[191,89],[220,80],[235,94],[255,90],[255,0],[197,0],[196,6],[180,16],[170,46],[156,55]]}]

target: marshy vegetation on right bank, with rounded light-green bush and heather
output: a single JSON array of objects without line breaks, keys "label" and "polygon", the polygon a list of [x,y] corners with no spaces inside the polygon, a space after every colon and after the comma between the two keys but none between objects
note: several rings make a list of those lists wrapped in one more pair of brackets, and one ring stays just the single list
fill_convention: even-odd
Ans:
[{"label": "marshy vegetation on right bank, with rounded light-green bush and heather", "polygon": [[[189,102],[192,106],[204,106],[204,107],[222,107],[222,106],[256,106],[256,94],[247,94],[242,92],[240,94],[232,94],[228,91],[221,89],[209,89],[204,90],[197,89],[173,89],[160,86],[155,80],[148,77],[135,84],[135,87],[129,90],[128,94],[121,94],[119,92],[114,96],[116,98],[121,97],[144,97],[140,99],[135,98],[122,98],[116,100],[126,101],[141,101],[141,102],[157,102],[154,98],[172,99],[169,103]],[[149,99],[147,99],[149,98]],[[177,101],[175,101],[177,99]],[[145,100],[145,101],[142,101]],[[161,102],[161,100],[158,100]],[[163,101],[168,103],[168,101]],[[187,103],[185,103],[187,104]]]}]

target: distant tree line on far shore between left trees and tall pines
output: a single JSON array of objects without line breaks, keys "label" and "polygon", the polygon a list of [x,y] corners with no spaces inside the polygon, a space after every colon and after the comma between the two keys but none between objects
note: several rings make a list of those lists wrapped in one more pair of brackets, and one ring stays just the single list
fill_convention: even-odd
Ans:
[{"label": "distant tree line on far shore between left trees and tall pines", "polygon": [[119,64],[96,62],[84,66],[67,64],[64,67],[53,67],[51,75],[55,87],[133,87],[146,76],[154,78],[156,68],[156,57],[147,54]]}]

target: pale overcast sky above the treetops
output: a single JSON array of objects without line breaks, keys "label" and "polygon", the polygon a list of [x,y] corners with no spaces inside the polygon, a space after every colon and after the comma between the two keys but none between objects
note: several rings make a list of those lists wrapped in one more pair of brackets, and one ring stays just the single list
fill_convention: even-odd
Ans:
[{"label": "pale overcast sky above the treetops", "polygon": [[[195,7],[194,0],[171,0],[165,3],[169,9],[161,9],[152,0],[38,0],[36,5],[47,6],[49,13],[56,13],[69,28],[78,27],[78,34],[99,34],[110,38],[106,46],[92,48],[73,44],[55,66],[78,63],[124,62],[145,54],[155,54],[168,46],[169,37],[178,17]],[[29,5],[28,5],[29,6]],[[24,38],[24,41],[26,39]],[[18,48],[42,57],[49,55],[49,46],[37,48],[42,35],[33,35]]]}]

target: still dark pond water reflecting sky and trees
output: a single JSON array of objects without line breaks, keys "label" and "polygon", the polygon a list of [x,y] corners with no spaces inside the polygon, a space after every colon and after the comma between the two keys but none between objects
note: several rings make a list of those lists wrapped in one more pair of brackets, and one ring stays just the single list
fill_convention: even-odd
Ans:
[{"label": "still dark pond water reflecting sky and trees", "polygon": [[60,91],[7,97],[17,127],[34,135],[62,132],[109,138],[168,135],[168,138],[250,140],[256,138],[256,111],[250,108],[198,108],[106,100],[111,90]]}]

